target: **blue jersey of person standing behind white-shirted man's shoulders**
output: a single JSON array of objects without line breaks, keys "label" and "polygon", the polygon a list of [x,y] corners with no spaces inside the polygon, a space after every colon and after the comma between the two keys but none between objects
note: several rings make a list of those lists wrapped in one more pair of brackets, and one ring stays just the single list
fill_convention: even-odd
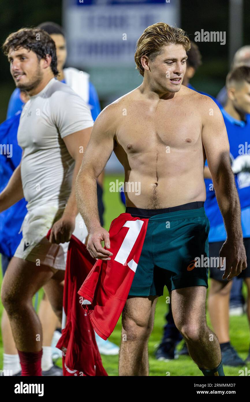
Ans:
[{"label": "blue jersey of person standing behind white-shirted man's shoulders", "polygon": [[[65,83],[65,80],[62,80],[61,82]],[[18,111],[22,110],[23,105],[24,103],[20,99],[20,89],[16,88],[10,96],[7,119],[13,117]],[[101,107],[96,88],[91,84],[91,82],[89,82],[89,107],[93,121],[95,121],[99,113],[101,113]]]}]

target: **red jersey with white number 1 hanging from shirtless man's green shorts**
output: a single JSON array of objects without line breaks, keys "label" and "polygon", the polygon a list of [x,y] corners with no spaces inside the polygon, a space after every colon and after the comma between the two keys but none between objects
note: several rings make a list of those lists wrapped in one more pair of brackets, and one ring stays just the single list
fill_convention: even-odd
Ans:
[{"label": "red jersey with white number 1 hanging from shirtless man's green shorts", "polygon": [[124,308],[140,254],[148,219],[122,213],[110,225],[111,260],[97,260],[78,294],[94,330],[103,339],[112,334]]}]

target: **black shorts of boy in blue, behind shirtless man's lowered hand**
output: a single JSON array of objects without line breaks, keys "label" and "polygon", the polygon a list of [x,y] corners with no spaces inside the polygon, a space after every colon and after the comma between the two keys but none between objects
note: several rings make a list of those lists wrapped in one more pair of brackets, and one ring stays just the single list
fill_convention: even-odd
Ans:
[{"label": "black shorts of boy in blue, behind shirtless man's lowered hand", "polygon": [[[250,238],[246,237],[243,239],[244,246],[246,249],[246,263],[247,268],[238,275],[237,278],[249,278],[250,277]],[[220,249],[222,248],[224,242],[213,242],[209,243],[209,259],[211,257],[218,257],[220,253]],[[211,259],[210,259],[211,260]],[[210,278],[215,279],[216,281],[224,282],[228,281],[227,279],[222,279],[223,270],[217,269],[215,267],[209,268]]]}]

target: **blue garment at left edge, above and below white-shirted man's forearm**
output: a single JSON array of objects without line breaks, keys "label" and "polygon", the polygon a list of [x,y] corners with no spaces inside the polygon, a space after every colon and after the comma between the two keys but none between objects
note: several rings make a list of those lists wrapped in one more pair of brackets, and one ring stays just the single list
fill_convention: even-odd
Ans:
[{"label": "blue garment at left edge, above and below white-shirted man's forearm", "polygon": [[[20,114],[11,117],[0,125],[0,144],[6,147],[5,152],[0,152],[0,191],[8,184],[22,157],[22,148],[17,143]],[[19,232],[26,212],[26,201],[23,198],[0,213],[0,253],[9,258],[14,255],[21,241],[22,235]]]}]

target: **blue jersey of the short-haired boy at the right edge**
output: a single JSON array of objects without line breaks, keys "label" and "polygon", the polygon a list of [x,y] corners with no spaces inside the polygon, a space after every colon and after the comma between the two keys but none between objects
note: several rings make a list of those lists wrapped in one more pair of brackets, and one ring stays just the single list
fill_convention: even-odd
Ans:
[{"label": "blue jersey of the short-haired boy at the right edge", "polygon": [[[242,209],[243,237],[246,238],[250,237],[250,145],[248,149],[250,115],[246,115],[246,122],[244,122],[234,119],[224,109],[221,109],[221,112],[228,132],[230,159]],[[205,165],[207,166],[207,161]],[[225,241],[226,230],[213,190],[212,180],[205,179],[205,185],[207,199],[204,207],[210,221],[209,242]]]}]

